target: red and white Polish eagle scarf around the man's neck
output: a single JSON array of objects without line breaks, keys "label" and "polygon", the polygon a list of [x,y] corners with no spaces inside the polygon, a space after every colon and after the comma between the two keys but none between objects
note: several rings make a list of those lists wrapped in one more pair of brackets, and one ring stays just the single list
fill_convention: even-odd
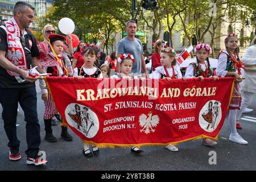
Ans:
[{"label": "red and white Polish eagle scarf around the man's neck", "polygon": [[[16,67],[28,70],[26,55],[22,43],[20,42],[20,30],[16,23],[16,20],[12,18],[5,22],[6,27],[2,26],[7,33],[7,44],[8,50],[6,53],[6,58],[13,63]],[[11,76],[19,76],[18,73],[7,70],[7,73]]]}]

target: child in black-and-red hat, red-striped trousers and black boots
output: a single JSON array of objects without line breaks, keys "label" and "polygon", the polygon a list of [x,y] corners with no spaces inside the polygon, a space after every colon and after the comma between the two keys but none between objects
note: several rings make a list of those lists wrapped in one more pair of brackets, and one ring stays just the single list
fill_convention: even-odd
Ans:
[{"label": "child in black-and-red hat, red-striped trousers and black boots", "polygon": [[[63,52],[63,42],[65,37],[58,34],[49,35],[48,45],[49,52],[44,55],[42,48],[40,48],[40,58],[41,63],[46,69],[47,73],[51,73],[52,76],[64,76],[67,77],[68,74],[72,75],[72,66],[69,59],[64,59],[61,57]],[[67,67],[66,67],[67,65]],[[68,69],[67,69],[68,68]],[[51,120],[55,115],[56,106],[49,95],[46,88],[46,83],[44,80],[40,80],[40,88],[42,89],[42,100],[44,100],[44,105],[46,109],[44,110],[44,125],[46,130],[46,139],[48,142],[56,142],[57,138],[52,134]],[[61,137],[67,141],[72,140],[72,136],[68,133],[67,125],[61,123]]]}]

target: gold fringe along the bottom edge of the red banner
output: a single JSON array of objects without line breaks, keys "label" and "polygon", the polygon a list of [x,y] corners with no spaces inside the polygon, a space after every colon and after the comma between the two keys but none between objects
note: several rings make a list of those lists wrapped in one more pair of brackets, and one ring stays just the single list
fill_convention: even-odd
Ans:
[{"label": "gold fringe along the bottom edge of the red banner", "polygon": [[199,135],[194,138],[189,138],[186,140],[182,140],[179,142],[169,142],[169,143],[141,143],[141,144],[115,144],[115,143],[94,143],[92,141],[82,140],[84,144],[97,146],[98,148],[117,148],[117,147],[123,147],[123,148],[129,148],[132,146],[142,147],[142,146],[167,146],[168,144],[173,144],[174,146],[177,146],[179,143],[187,142],[188,140],[198,140],[203,138],[210,138],[214,140],[218,140],[218,135],[216,137],[209,137],[207,135]]}]

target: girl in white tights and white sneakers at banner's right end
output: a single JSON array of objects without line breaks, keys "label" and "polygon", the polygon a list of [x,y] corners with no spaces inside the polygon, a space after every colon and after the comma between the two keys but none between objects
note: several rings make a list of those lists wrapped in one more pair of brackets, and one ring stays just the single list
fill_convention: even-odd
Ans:
[{"label": "girl in white tights and white sneakers at banner's right end", "polygon": [[241,93],[239,83],[242,82],[243,79],[240,70],[241,68],[243,68],[242,62],[240,61],[236,52],[237,43],[237,35],[233,32],[231,32],[225,38],[226,50],[220,53],[216,73],[217,76],[220,77],[235,77],[232,100],[229,105],[229,124],[231,129],[229,140],[239,144],[248,144],[248,142],[237,133],[236,129],[237,109],[240,109],[241,105]]}]

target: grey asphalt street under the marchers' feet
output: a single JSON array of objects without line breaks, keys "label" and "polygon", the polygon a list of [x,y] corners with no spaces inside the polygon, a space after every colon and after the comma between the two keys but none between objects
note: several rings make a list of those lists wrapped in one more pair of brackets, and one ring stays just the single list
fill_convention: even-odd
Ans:
[{"label": "grey asphalt street under the marchers' feet", "polygon": [[[53,126],[53,133],[58,138],[56,143],[44,140],[43,110],[44,105],[38,93],[38,114],[41,125],[42,144],[40,150],[46,151],[48,164],[46,166],[28,166],[26,164],[26,133],[23,111],[19,107],[17,127],[20,140],[22,159],[18,162],[9,160],[7,137],[3,129],[3,120],[0,119],[0,170],[256,170],[256,98],[253,112],[243,114],[238,130],[249,144],[243,146],[228,140],[230,129],[226,119],[219,135],[218,144],[207,147],[200,140],[192,140],[179,145],[179,152],[170,152],[162,146],[143,147],[143,155],[135,156],[130,148],[101,148],[100,155],[86,158],[82,155],[82,143],[72,131],[72,142],[66,142],[60,137],[60,126]],[[2,107],[0,107],[2,112]],[[250,121],[249,121],[249,120]],[[69,130],[70,131],[70,130]],[[217,154],[217,164],[209,164],[209,152]]]}]

